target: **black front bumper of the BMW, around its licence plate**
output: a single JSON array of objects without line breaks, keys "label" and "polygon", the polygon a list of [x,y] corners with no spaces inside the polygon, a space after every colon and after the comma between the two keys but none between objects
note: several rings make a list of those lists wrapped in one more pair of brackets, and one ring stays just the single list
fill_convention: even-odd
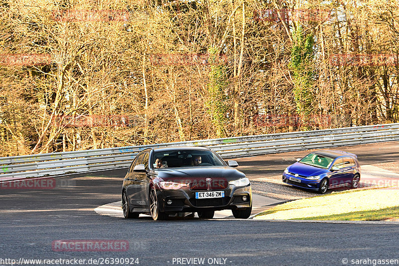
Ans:
[{"label": "black front bumper of the BMW, around its licence plate", "polygon": [[[189,188],[179,190],[159,190],[157,191],[158,204],[161,212],[165,213],[190,213],[204,210],[234,210],[237,208],[248,208],[252,206],[251,185],[236,188],[229,185],[224,191],[223,198],[196,199],[196,192]],[[246,201],[242,197],[246,196]],[[171,200],[171,204],[167,202]]]}]

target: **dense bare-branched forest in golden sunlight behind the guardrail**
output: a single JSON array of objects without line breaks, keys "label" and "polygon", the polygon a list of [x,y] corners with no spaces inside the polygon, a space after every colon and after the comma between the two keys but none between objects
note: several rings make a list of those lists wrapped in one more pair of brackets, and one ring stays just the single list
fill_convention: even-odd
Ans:
[{"label": "dense bare-branched forest in golden sunlight behind the guardrail", "polygon": [[396,0],[0,0],[0,156],[399,120]]}]

